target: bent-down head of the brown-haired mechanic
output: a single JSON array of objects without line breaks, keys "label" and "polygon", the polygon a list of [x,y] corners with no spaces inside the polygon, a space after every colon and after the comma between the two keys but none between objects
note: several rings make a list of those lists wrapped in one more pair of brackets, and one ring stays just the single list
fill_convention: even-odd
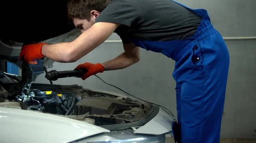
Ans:
[{"label": "bent-down head of the brown-haired mechanic", "polygon": [[111,0],[69,0],[67,15],[81,32],[89,29]]}]

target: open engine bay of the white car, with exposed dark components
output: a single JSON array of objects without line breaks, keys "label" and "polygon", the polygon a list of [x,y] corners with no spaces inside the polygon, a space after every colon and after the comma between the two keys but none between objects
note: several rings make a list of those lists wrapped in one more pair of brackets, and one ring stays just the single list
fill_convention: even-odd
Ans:
[{"label": "open engine bay of the white car, with exposed dark components", "polygon": [[79,85],[33,83],[36,74],[42,73],[40,66],[35,69],[29,64],[22,70],[23,77],[0,71],[0,107],[53,114],[97,126],[137,122],[154,110],[151,104]]}]

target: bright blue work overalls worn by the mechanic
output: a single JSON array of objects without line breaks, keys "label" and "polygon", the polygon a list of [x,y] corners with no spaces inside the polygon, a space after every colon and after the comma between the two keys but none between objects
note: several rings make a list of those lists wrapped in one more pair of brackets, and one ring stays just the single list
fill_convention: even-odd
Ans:
[{"label": "bright blue work overalls worn by the mechanic", "polygon": [[173,41],[130,40],[137,47],[175,60],[172,76],[177,83],[181,143],[220,143],[229,52],[221,34],[213,28],[207,11],[191,10],[203,18],[192,37]]}]

